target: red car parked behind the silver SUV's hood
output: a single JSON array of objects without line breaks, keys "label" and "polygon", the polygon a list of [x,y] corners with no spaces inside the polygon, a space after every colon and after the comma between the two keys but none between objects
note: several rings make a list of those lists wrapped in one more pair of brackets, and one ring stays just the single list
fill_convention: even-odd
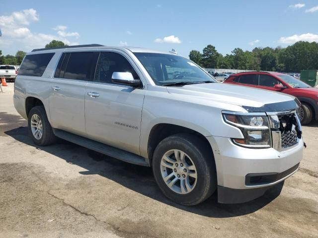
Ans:
[{"label": "red car parked behind the silver SUV's hood", "polygon": [[318,120],[318,88],[288,74],[259,71],[242,72],[232,74],[224,83],[290,94],[297,97],[302,103],[298,112],[302,124],[308,124],[312,119]]}]

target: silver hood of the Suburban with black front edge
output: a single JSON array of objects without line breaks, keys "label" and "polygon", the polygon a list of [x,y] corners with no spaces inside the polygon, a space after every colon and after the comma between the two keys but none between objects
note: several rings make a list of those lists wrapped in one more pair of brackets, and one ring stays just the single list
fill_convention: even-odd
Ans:
[{"label": "silver hood of the Suburban with black front edge", "polygon": [[[167,90],[171,94],[186,95],[188,97],[199,97],[204,100],[213,100],[222,103],[234,104],[246,108],[262,108],[264,105],[282,104],[292,102],[295,109],[294,97],[252,87],[244,87],[223,83],[202,83],[184,86],[169,86]],[[288,107],[290,107],[289,104]],[[247,109],[246,109],[247,110]],[[285,109],[289,110],[289,109]],[[281,109],[281,111],[285,111]],[[250,111],[250,110],[247,110]],[[280,111],[276,108],[275,111]]]}]

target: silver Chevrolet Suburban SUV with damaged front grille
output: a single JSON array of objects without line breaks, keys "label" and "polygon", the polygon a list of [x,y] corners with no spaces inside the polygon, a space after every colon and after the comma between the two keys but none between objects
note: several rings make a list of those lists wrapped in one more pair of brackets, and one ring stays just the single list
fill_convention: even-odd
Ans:
[{"label": "silver Chevrolet Suburban SUV with damaged front grille", "polygon": [[81,45],[27,54],[14,106],[35,144],[63,138],[141,166],[195,205],[240,203],[293,175],[303,157],[299,101],[222,84],[197,64],[143,48]]}]

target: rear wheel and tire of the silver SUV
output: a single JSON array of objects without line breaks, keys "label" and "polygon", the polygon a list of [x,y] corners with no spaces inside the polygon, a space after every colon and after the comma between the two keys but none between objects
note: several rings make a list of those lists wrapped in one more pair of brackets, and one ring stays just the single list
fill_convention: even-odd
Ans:
[{"label": "rear wheel and tire of the silver SUV", "polygon": [[[36,123],[37,125],[35,126],[35,121],[37,121],[37,118],[40,119],[40,122]],[[33,126],[31,126],[31,124]],[[35,134],[33,131],[36,130],[36,128],[42,128],[42,133]],[[28,129],[32,140],[37,145],[50,145],[56,141],[56,136],[53,133],[52,127],[46,116],[46,112],[43,106],[36,106],[30,110],[28,115]]]}]

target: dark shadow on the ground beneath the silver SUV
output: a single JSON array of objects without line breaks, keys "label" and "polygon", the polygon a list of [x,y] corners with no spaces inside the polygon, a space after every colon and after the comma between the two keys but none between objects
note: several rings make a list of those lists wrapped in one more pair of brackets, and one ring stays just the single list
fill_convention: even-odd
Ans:
[{"label": "dark shadow on the ground beneath the silver SUV", "polygon": [[84,168],[87,171],[79,172],[82,175],[100,175],[169,206],[206,217],[226,218],[253,213],[273,201],[280,194],[283,187],[283,183],[277,184],[270,188],[262,197],[241,204],[218,203],[217,195],[213,194],[199,205],[182,206],[172,202],[160,192],[153,177],[152,169],[149,167],[125,163],[65,140],[59,140],[51,146],[37,146],[28,136],[27,127],[18,127],[4,133],[17,141],[46,151],[68,163]]}]

